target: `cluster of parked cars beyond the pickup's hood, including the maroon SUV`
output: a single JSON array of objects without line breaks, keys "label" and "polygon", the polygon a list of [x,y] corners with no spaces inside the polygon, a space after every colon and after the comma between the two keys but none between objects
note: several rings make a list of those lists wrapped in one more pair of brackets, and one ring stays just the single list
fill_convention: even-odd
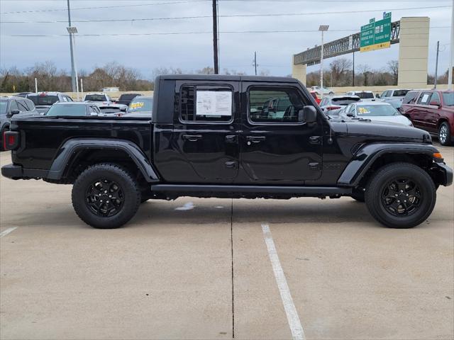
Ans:
[{"label": "cluster of parked cars beyond the pickup's hood, including the maroon SUV", "polygon": [[323,98],[311,91],[311,95],[331,118],[414,126],[438,137],[441,145],[454,143],[454,91],[390,89],[376,96],[372,91],[350,91]]}]

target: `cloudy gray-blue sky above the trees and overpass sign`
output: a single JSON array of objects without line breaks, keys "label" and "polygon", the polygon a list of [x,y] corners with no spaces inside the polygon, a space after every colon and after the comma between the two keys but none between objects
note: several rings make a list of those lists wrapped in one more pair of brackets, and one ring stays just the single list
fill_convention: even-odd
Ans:
[{"label": "cloudy gray-blue sky above the trees and overpass sign", "polygon": [[[221,69],[253,74],[253,54],[257,51],[259,70],[267,69],[272,75],[287,75],[292,72],[291,58],[294,53],[320,44],[318,32],[235,31],[317,30],[320,24],[328,24],[328,42],[358,32],[370,18],[381,18],[383,11],[392,11],[393,21],[402,16],[429,16],[429,72],[435,70],[437,40],[441,44],[439,69],[443,72],[448,69],[451,0],[218,1]],[[213,64],[211,0],[70,0],[70,4],[73,26],[77,26],[81,35],[77,37],[76,50],[79,69],[90,70],[96,65],[116,61],[139,69],[144,78],[151,78],[155,67],[180,67],[190,72]],[[69,38],[65,36],[66,8],[66,0],[0,0],[0,66],[15,65],[22,69],[35,62],[52,60],[57,67],[70,69]],[[247,16],[299,13],[301,15]],[[188,16],[206,18],[179,18]],[[166,19],[140,20],[150,18]],[[83,36],[87,34],[99,36]],[[392,45],[386,50],[356,53],[355,64],[369,64],[374,69],[380,69],[386,66],[387,61],[397,60],[398,54],[399,45]],[[318,65],[309,67],[308,72],[318,68]]]}]

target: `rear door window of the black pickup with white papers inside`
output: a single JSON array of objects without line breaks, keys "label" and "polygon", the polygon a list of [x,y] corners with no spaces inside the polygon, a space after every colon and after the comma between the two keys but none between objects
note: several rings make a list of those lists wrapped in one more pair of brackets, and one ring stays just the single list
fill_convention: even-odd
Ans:
[{"label": "rear door window of the black pickup with white papers inside", "polygon": [[184,84],[179,91],[182,123],[233,122],[233,89],[227,85]]}]

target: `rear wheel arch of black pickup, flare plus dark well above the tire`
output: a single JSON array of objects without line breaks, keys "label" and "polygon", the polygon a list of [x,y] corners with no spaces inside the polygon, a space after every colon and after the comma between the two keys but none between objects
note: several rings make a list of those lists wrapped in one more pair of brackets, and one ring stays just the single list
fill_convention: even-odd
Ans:
[{"label": "rear wheel arch of black pickup, flare plus dark well above the tire", "polygon": [[54,181],[71,180],[87,166],[102,162],[116,162],[130,170],[135,168],[148,183],[160,180],[153,164],[137,145],[128,140],[104,138],[72,138],[64,142],[50,166],[47,178]]}]

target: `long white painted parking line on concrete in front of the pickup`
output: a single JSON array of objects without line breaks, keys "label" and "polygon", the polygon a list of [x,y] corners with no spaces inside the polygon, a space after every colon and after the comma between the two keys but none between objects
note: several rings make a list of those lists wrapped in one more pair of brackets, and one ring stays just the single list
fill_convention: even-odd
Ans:
[{"label": "long white painted parking line on concrete in front of the pickup", "polygon": [[289,322],[292,337],[295,340],[304,340],[303,327],[299,321],[297,308],[295,307],[292,299],[292,294],[287,285],[287,280],[282,270],[279,256],[277,255],[275,242],[272,239],[270,226],[262,225],[263,237],[265,237],[265,244],[267,244],[268,255],[270,256],[272,270],[275,272],[275,278],[279,293],[281,295],[282,304],[284,305],[285,314],[287,314],[287,321]]}]

